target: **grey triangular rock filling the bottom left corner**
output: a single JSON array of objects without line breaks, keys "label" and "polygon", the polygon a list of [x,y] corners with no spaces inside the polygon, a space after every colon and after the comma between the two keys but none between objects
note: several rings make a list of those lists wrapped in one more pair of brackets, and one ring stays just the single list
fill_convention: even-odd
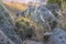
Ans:
[{"label": "grey triangular rock filling the bottom left corner", "polygon": [[0,30],[0,44],[14,44],[14,43]]}]

